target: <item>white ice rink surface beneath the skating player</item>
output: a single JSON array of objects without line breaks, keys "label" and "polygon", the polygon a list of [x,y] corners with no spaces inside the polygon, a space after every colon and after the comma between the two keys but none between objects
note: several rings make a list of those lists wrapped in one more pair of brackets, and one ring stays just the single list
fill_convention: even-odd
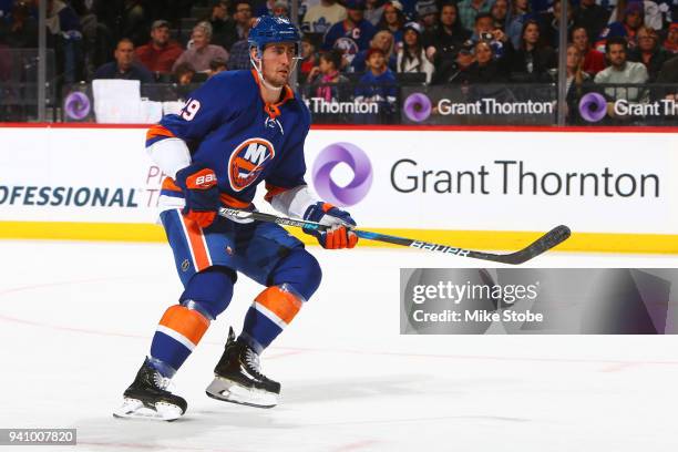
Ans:
[{"label": "white ice rink surface beneath the skating player", "polygon": [[[204,393],[227,327],[240,329],[260,290],[242,277],[175,378],[186,415],[116,420],[112,409],[181,294],[168,246],[0,242],[0,428],[76,428],[73,450],[678,450],[678,337],[400,336],[400,267],[485,266],[408,249],[311,250],[322,285],[263,356],[264,372],[282,383],[277,408]],[[677,267],[678,258],[552,253],[531,265]]]}]

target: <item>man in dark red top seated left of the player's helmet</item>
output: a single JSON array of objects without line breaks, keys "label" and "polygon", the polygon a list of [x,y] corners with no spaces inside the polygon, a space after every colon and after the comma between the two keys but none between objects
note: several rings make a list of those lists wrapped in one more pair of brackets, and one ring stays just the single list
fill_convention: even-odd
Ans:
[{"label": "man in dark red top seated left of the player's helmet", "polygon": [[170,40],[170,22],[161,19],[151,25],[151,41],[137,48],[134,54],[148,71],[167,74],[183,52],[177,42]]}]

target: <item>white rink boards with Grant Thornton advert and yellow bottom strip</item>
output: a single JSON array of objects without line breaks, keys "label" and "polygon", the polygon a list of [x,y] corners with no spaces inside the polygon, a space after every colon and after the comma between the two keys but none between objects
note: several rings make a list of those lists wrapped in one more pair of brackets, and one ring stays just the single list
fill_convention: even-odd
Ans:
[{"label": "white rink boards with Grant Thornton advert and yellow bottom strip", "polygon": [[[676,131],[315,127],[307,182],[387,234],[512,249],[566,224],[559,249],[676,254]],[[0,238],[164,240],[144,136],[0,126]]]}]

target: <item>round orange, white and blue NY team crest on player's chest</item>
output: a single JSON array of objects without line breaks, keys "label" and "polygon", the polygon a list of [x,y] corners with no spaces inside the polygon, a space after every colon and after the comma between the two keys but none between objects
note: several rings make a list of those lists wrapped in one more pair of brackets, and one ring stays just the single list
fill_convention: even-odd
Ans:
[{"label": "round orange, white and blue NY team crest on player's chest", "polygon": [[276,155],[273,144],[264,138],[240,143],[228,158],[228,182],[234,192],[242,192],[257,179],[265,164]]}]

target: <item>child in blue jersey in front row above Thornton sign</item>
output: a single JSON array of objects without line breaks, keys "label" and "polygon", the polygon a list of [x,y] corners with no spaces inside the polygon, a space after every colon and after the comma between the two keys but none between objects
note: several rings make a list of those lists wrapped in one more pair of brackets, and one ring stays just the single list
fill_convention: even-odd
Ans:
[{"label": "child in blue jersey in front row above Thornton sign", "polygon": [[378,48],[368,50],[366,64],[368,71],[360,78],[356,89],[356,102],[376,103],[380,112],[392,112],[398,88],[396,75],[387,66],[383,51]]}]

